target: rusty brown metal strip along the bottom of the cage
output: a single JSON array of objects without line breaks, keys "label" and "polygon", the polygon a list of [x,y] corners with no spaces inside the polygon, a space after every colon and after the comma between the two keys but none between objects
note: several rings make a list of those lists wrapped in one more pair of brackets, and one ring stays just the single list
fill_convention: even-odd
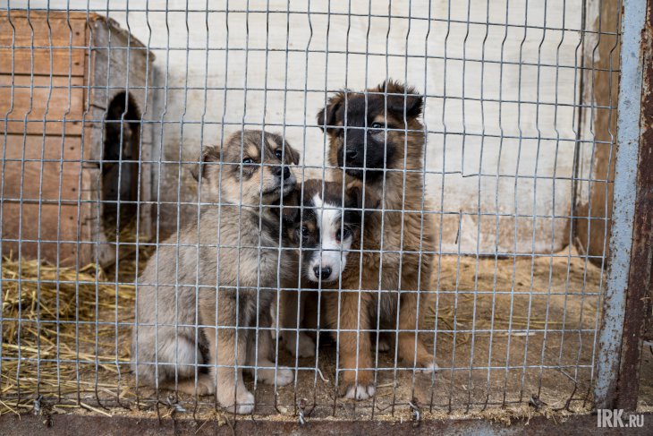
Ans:
[{"label": "rusty brown metal strip along the bottom of the cage", "polygon": [[[423,421],[415,426],[411,422],[394,423],[384,421],[326,421],[308,422],[304,425],[280,421],[239,420],[236,423],[216,421],[194,421],[192,419],[137,418],[131,416],[102,415],[2,415],[0,416],[0,433],[15,436],[34,436],[56,434],[72,436],[92,434],[102,436],[109,434],[142,436],[176,435],[176,434],[225,434],[225,435],[275,435],[275,434],[323,434],[347,435],[414,435],[414,434],[500,434],[500,435],[549,435],[552,432],[565,436],[614,434],[645,435],[650,434],[653,414],[643,415],[644,426],[640,428],[598,428],[597,415],[571,415],[564,419],[547,419],[543,416],[530,420],[513,420],[510,425],[480,419],[450,419],[442,421]],[[624,419],[624,421],[627,421]]]}]

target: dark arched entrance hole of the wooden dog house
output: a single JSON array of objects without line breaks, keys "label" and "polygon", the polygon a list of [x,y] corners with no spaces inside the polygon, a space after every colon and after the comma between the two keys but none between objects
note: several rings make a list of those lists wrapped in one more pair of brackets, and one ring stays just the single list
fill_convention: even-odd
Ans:
[{"label": "dark arched entrance hole of the wooden dog house", "polygon": [[[102,162],[102,219],[107,235],[136,217],[139,187],[140,113],[127,92],[106,110]],[[120,205],[120,207],[118,207]]]}]

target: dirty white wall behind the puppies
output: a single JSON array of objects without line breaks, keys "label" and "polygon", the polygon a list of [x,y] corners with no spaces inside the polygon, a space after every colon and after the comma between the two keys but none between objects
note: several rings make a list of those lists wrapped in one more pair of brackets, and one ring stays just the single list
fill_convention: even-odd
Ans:
[{"label": "dirty white wall behind the puppies", "polygon": [[[302,150],[302,163],[321,166],[315,114],[327,91],[392,77],[428,96],[428,196],[444,212],[443,250],[562,249],[569,220],[546,217],[568,216],[572,204],[582,1],[394,0],[390,20],[387,2],[370,3],[378,17],[359,1],[313,1],[310,13],[308,2],[271,0],[266,13],[266,2],[250,1],[246,13],[232,0],[225,13],[223,1],[170,0],[166,13],[164,2],[131,0],[126,13],[112,0],[109,16],[157,56],[151,115],[165,124],[155,128],[155,156],[193,159],[202,141],[266,124]],[[106,14],[107,2],[90,7]],[[161,200],[176,201],[179,179],[191,198],[186,171],[164,165],[160,177]]]}]

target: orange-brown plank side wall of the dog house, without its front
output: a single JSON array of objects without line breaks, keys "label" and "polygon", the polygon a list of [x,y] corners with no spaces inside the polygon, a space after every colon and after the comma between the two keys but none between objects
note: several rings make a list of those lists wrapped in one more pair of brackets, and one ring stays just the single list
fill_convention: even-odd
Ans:
[{"label": "orange-brown plank side wall of the dog house, without its front", "polygon": [[72,265],[79,249],[80,264],[90,260],[81,226],[90,211],[81,202],[89,198],[81,143],[87,33],[85,13],[0,12],[4,255],[20,248],[23,258]]}]

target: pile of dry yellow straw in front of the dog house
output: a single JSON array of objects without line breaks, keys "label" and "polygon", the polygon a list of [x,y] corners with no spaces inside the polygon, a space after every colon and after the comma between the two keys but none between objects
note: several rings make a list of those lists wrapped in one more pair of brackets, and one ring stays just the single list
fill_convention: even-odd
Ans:
[{"label": "pile of dry yellow straw in front of the dog house", "polygon": [[[120,241],[136,241],[133,226],[123,228]],[[140,248],[141,267],[151,252],[151,247]],[[115,265],[102,269],[90,263],[78,270],[46,261],[19,262],[12,253],[3,258],[0,398],[5,399],[0,401],[0,415],[33,406],[32,399],[38,395],[65,399],[80,392],[116,388],[112,381],[116,365],[103,362],[129,361],[122,347],[119,355],[112,353],[116,329],[110,323],[130,312],[134,286],[112,282],[133,282],[135,245],[120,245],[119,253],[117,275]],[[80,368],[78,361],[97,363],[98,372],[110,375],[104,377],[109,381],[84,380],[80,373],[88,369]]]}]

